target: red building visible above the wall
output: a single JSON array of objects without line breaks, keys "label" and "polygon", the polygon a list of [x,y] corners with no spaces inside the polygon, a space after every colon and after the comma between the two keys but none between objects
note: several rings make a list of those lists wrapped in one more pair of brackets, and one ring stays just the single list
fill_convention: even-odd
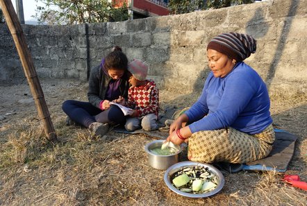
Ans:
[{"label": "red building visible above the wall", "polygon": [[115,8],[128,7],[131,19],[169,15],[167,5],[169,0],[110,0],[115,3]]}]

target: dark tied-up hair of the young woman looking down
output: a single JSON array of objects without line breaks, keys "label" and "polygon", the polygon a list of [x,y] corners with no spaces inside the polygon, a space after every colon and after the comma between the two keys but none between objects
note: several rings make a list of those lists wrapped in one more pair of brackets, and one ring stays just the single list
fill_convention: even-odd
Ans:
[{"label": "dark tied-up hair of the young woman looking down", "polygon": [[128,67],[128,58],[126,54],[122,52],[119,46],[115,46],[112,52],[104,58],[103,67],[108,69],[126,70]]}]

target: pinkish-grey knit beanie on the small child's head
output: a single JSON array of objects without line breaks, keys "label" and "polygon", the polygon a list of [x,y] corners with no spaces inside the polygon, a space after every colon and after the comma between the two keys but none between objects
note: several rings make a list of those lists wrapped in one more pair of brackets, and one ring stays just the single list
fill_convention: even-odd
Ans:
[{"label": "pinkish-grey knit beanie on the small child's head", "polygon": [[128,65],[128,71],[130,71],[137,80],[144,81],[147,77],[148,65],[142,60],[135,59]]}]

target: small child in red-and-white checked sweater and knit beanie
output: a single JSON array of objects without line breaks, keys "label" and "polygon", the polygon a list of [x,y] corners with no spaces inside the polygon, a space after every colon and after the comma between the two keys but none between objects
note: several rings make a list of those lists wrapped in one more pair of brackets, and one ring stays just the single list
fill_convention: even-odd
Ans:
[{"label": "small child in red-and-white checked sweater and knit beanie", "polygon": [[131,87],[128,89],[128,101],[124,98],[117,99],[117,103],[133,109],[125,124],[128,131],[156,130],[158,125],[158,88],[154,80],[147,80],[148,65],[142,60],[135,59],[128,64],[130,76],[128,78]]}]

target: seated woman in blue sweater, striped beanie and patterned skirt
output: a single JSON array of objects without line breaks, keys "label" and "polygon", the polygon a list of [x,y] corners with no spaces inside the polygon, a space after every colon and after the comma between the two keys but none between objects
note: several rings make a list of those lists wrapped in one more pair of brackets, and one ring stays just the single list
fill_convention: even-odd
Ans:
[{"label": "seated woman in blue sweater, striped beanie and patterned skirt", "polygon": [[[196,162],[245,163],[269,155],[275,139],[267,87],[243,60],[256,40],[222,33],[207,46],[211,69],[199,100],[170,126],[168,141],[188,142]],[[187,124],[188,123],[188,124]]]}]

